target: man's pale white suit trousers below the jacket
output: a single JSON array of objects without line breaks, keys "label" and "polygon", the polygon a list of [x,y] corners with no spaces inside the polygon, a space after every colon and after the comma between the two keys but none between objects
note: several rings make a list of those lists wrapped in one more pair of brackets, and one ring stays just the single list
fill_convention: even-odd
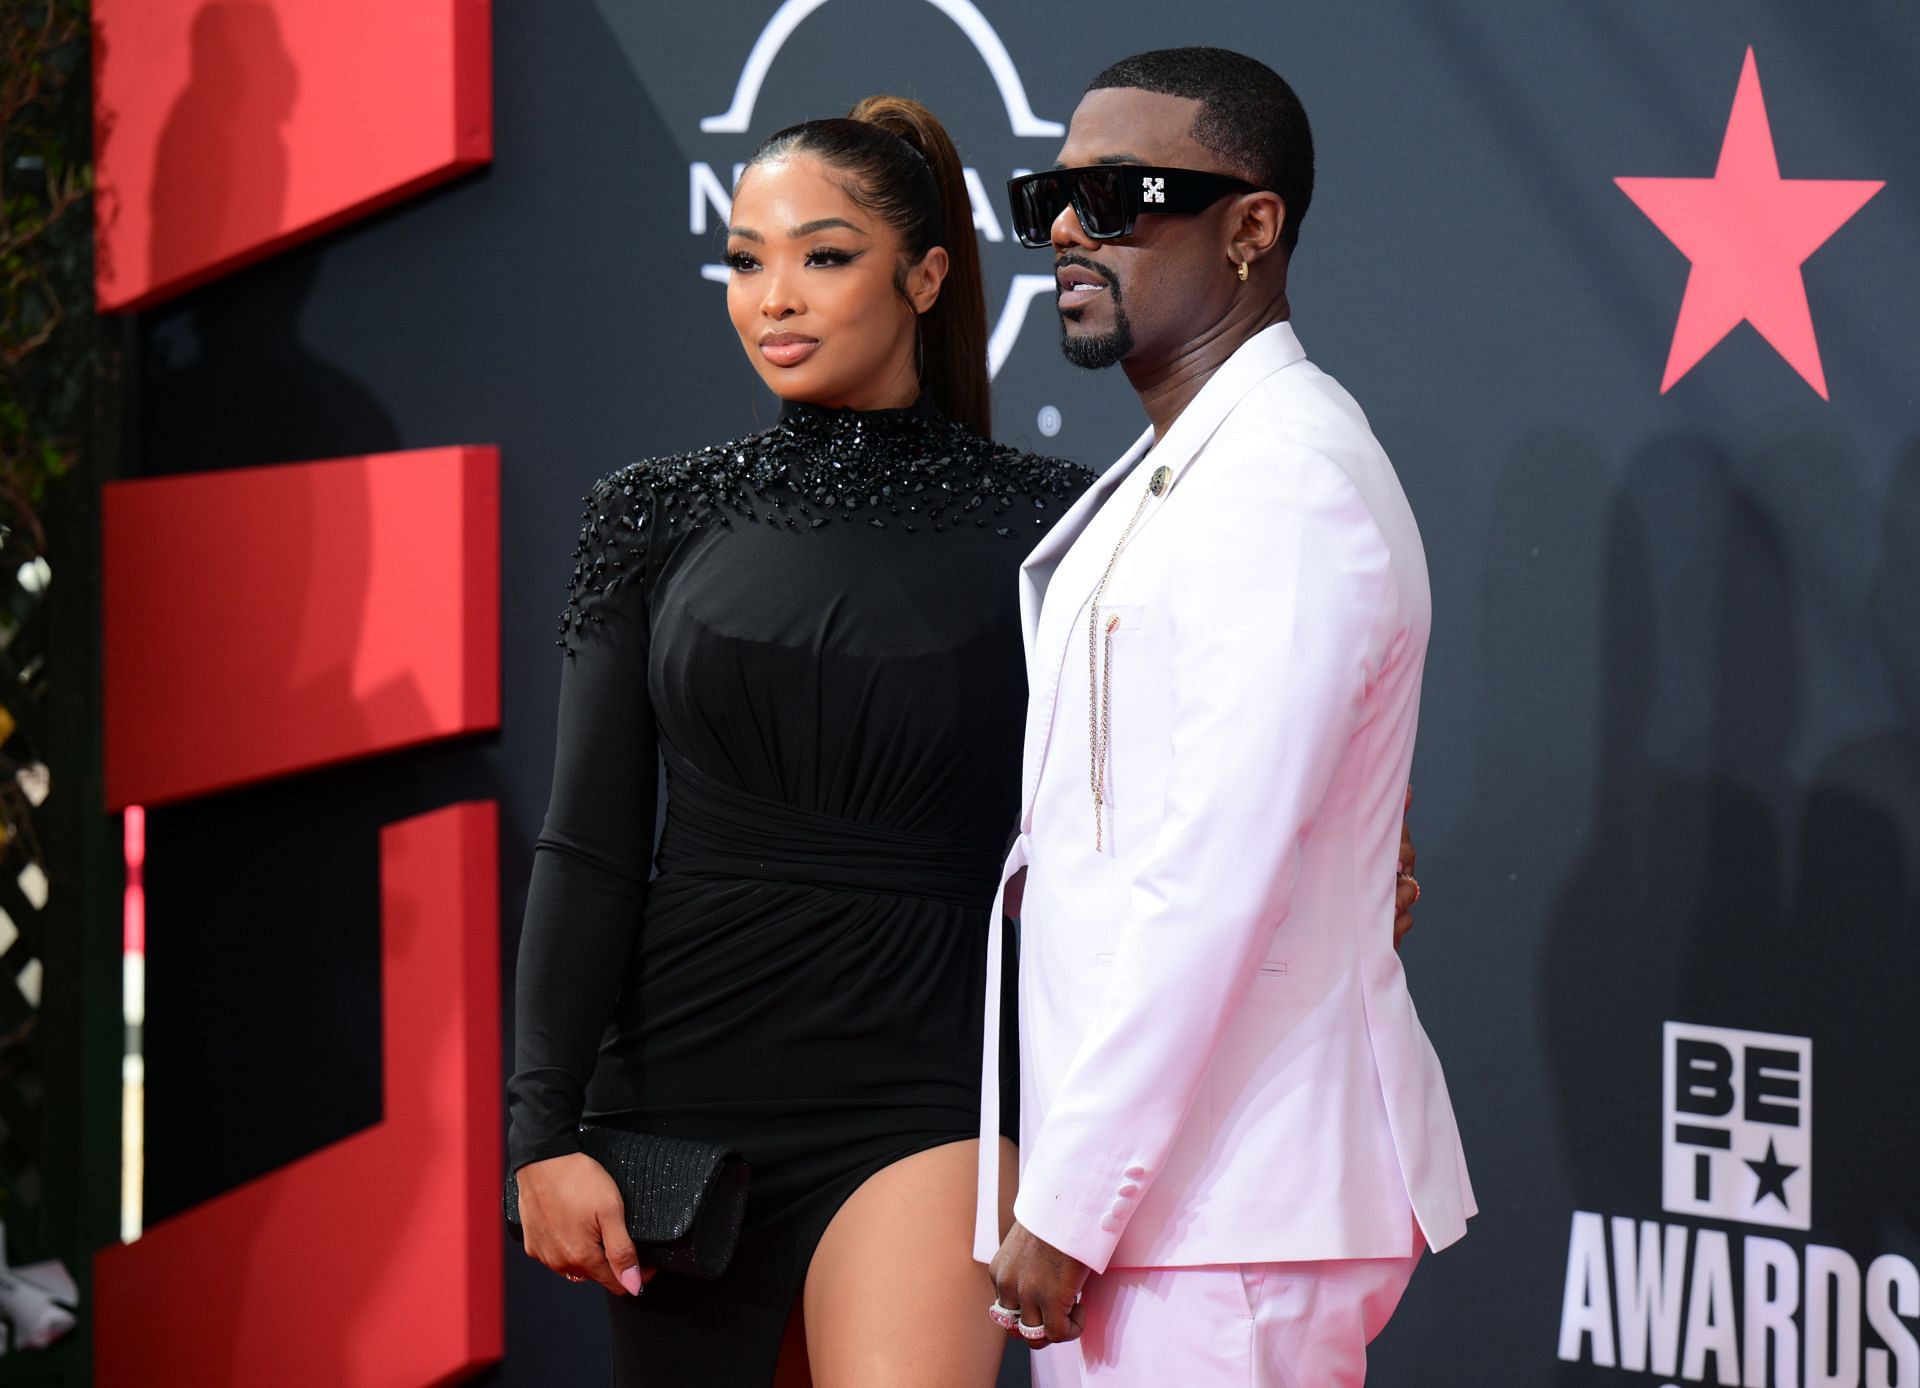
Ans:
[{"label": "man's pale white suit trousers below the jacket", "polygon": [[1087,1282],[1085,1334],[1033,1353],[1033,1384],[1359,1388],[1417,1261],[1116,1267]]}]

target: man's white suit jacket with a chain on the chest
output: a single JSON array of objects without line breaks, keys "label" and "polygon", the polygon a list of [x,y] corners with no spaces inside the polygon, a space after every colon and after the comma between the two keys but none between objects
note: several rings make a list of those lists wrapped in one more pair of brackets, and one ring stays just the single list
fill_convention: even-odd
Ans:
[{"label": "man's white suit jacket with a chain on the chest", "polygon": [[[1087,605],[1137,509],[1100,599],[1096,852]],[[1260,332],[1054,526],[1020,603],[1020,1223],[1094,1271],[1404,1257],[1413,1221],[1452,1244],[1473,1190],[1392,941],[1427,559],[1359,405]],[[1000,902],[993,929],[981,1261]]]}]

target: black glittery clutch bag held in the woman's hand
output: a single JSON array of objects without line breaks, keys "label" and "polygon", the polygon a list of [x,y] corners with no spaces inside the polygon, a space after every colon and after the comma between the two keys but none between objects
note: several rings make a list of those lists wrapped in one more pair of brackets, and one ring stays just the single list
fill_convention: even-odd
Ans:
[{"label": "black glittery clutch bag held in the woman's hand", "polygon": [[[580,1150],[607,1167],[626,1202],[641,1267],[720,1277],[747,1217],[747,1163],[718,1142],[618,1127],[580,1127]],[[507,1177],[507,1227],[520,1234],[520,1183]]]}]

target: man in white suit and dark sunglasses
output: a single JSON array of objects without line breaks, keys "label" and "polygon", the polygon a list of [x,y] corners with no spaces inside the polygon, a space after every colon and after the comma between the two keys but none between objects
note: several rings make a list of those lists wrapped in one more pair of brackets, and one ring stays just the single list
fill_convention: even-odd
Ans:
[{"label": "man in white suit and dark sunglasses", "polygon": [[1294,92],[1213,48],[1106,69],[1012,184],[1068,359],[1152,420],[1023,568],[1021,1177],[1002,1242],[981,1163],[975,1256],[1043,1388],[1359,1384],[1475,1213],[1392,941],[1427,562],[1288,324],[1311,190]]}]

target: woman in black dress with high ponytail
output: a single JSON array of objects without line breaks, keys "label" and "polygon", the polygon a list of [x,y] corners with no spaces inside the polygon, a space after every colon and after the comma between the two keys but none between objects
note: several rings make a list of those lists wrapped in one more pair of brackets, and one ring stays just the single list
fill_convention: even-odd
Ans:
[{"label": "woman in black dress with high ponytail", "polygon": [[[563,616],[509,1085],[526,1250],[616,1294],[616,1384],[987,1388],[1004,1334],[970,1242],[1014,578],[1091,478],[985,438],[972,209],[918,104],[772,136],[728,265],[781,419],[605,478]],[[747,1158],[722,1279],[639,1294],[582,1113]]]}]

